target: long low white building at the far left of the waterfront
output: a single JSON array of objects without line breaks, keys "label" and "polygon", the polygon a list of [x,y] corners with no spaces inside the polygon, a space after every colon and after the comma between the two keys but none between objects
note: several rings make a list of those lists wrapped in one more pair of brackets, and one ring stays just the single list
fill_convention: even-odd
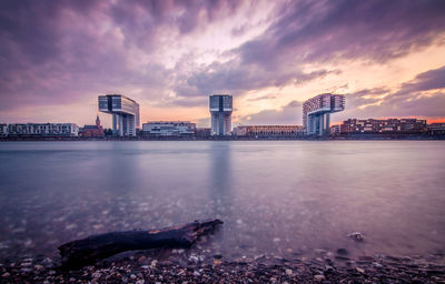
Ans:
[{"label": "long low white building at the far left of the waterfront", "polygon": [[75,123],[12,123],[8,135],[77,136],[79,126]]}]

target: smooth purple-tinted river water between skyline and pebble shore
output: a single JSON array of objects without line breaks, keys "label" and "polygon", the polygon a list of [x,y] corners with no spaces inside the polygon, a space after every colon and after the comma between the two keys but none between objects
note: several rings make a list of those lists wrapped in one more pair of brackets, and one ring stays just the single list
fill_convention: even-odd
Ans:
[{"label": "smooth purple-tinted river water between skyline and pebble shore", "polygon": [[[445,142],[0,143],[0,260],[221,219],[225,257],[445,248]],[[366,240],[347,237],[362,232]]]}]

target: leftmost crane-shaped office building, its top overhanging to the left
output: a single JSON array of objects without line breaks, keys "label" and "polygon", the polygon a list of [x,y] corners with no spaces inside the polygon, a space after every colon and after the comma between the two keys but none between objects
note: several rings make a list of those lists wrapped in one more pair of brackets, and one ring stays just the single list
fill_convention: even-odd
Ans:
[{"label": "leftmost crane-shaped office building, its top overhanging to the left", "polygon": [[112,114],[112,133],[136,136],[139,126],[139,104],[121,94],[99,95],[99,111]]}]

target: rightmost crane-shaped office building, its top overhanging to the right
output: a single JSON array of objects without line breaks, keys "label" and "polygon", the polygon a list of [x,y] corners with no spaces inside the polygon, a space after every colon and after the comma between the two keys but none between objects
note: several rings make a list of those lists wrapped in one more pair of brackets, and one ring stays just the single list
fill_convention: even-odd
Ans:
[{"label": "rightmost crane-shaped office building, its top overhanging to the right", "polygon": [[307,135],[329,133],[330,113],[345,110],[345,95],[324,93],[303,104],[303,124]]}]

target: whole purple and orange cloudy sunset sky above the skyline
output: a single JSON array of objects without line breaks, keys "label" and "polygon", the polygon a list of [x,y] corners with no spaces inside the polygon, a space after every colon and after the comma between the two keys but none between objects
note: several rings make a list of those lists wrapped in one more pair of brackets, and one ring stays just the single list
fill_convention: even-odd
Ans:
[{"label": "whole purple and orange cloudy sunset sky above the skyline", "polygon": [[[121,93],[141,123],[303,124],[303,102],[346,95],[349,118],[445,121],[445,1],[0,1],[0,122],[93,124]],[[99,113],[109,126],[111,116]]]}]

